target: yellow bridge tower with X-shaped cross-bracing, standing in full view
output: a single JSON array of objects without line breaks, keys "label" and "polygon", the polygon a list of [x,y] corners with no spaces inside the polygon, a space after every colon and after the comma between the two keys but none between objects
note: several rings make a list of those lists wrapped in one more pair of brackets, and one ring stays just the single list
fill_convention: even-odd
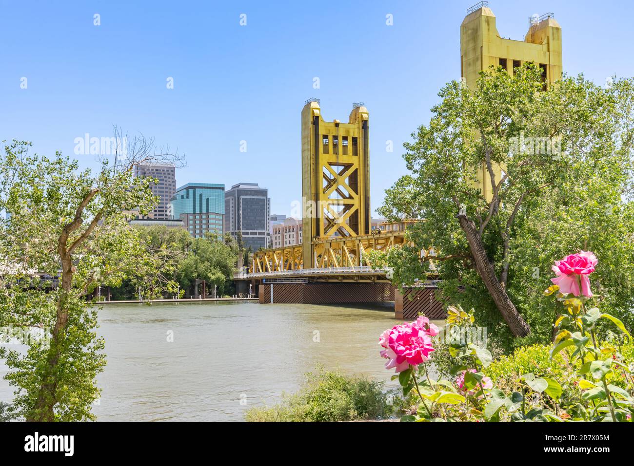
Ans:
[{"label": "yellow bridge tower with X-shaped cross-bracing, standing in full view", "polygon": [[347,123],[326,122],[320,101],[302,109],[302,260],[316,263],[313,241],[370,234],[368,110],[354,103]]}]

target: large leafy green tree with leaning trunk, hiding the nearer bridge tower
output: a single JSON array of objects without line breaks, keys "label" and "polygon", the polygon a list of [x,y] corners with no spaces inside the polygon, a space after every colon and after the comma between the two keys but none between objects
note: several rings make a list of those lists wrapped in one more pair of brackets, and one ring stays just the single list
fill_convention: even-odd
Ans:
[{"label": "large leafy green tree with leaning trunk, hiding the nearer bridge tower", "polygon": [[[529,301],[547,286],[552,261],[579,248],[605,252],[597,254],[602,267],[621,280],[618,292],[616,274],[604,282],[612,304],[632,305],[623,289],[633,275],[633,81],[603,89],[566,77],[540,89],[532,65],[513,77],[482,72],[474,89],[446,85],[429,125],[404,144],[411,174],[379,210],[391,220],[424,219],[408,230],[411,246],[389,255],[396,283],[435,267],[445,299],[488,306],[496,315],[481,315],[484,324],[502,331],[501,315],[514,336],[528,334],[526,318],[536,317]],[[493,186],[490,199],[477,188],[478,168]]]}]

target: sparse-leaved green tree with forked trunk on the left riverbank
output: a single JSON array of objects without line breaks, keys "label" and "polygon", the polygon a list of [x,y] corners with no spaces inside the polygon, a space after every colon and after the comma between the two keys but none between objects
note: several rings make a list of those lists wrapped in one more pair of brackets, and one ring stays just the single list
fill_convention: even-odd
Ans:
[{"label": "sparse-leaved green tree with forked trunk on the left riverbank", "polygon": [[[125,151],[101,158],[96,173],[60,153],[30,155],[27,142],[13,141],[0,155],[0,210],[9,214],[0,220],[0,326],[21,330],[29,344],[25,355],[0,347],[0,357],[16,387],[12,410],[27,421],[94,419],[95,376],[105,365],[89,299],[96,287],[133,278],[150,298],[170,285],[126,212],[157,203],[155,180],[134,177],[134,166],[175,159],[152,139],[125,137]],[[59,286],[30,283],[38,272],[58,276]]]}]

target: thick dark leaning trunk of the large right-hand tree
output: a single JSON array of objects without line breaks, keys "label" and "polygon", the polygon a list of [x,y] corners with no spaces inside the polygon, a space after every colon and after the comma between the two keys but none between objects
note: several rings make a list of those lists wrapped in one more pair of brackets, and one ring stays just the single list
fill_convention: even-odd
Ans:
[{"label": "thick dark leaning trunk of the large right-hand tree", "polygon": [[482,240],[475,229],[475,225],[464,215],[458,215],[458,221],[467,236],[467,242],[469,242],[471,255],[475,262],[475,270],[477,270],[482,282],[484,282],[484,286],[488,289],[491,298],[493,298],[493,302],[505,322],[507,322],[513,335],[516,337],[526,336],[531,329],[520,313],[517,312],[515,305],[508,298],[507,292],[498,281],[498,277],[495,275],[495,269],[486,256],[486,252],[482,246]]}]

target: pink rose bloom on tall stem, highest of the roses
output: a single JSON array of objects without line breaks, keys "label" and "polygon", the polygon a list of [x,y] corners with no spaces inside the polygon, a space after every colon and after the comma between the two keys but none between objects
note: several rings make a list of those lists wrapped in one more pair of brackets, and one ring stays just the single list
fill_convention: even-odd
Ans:
[{"label": "pink rose bloom on tall stem, highest of the roses", "polygon": [[555,261],[552,270],[557,274],[557,277],[550,279],[550,281],[559,286],[559,291],[563,294],[572,293],[574,296],[583,294],[583,296],[591,298],[592,291],[590,291],[588,275],[595,271],[597,262],[597,257],[590,251],[571,254],[562,260]]}]

